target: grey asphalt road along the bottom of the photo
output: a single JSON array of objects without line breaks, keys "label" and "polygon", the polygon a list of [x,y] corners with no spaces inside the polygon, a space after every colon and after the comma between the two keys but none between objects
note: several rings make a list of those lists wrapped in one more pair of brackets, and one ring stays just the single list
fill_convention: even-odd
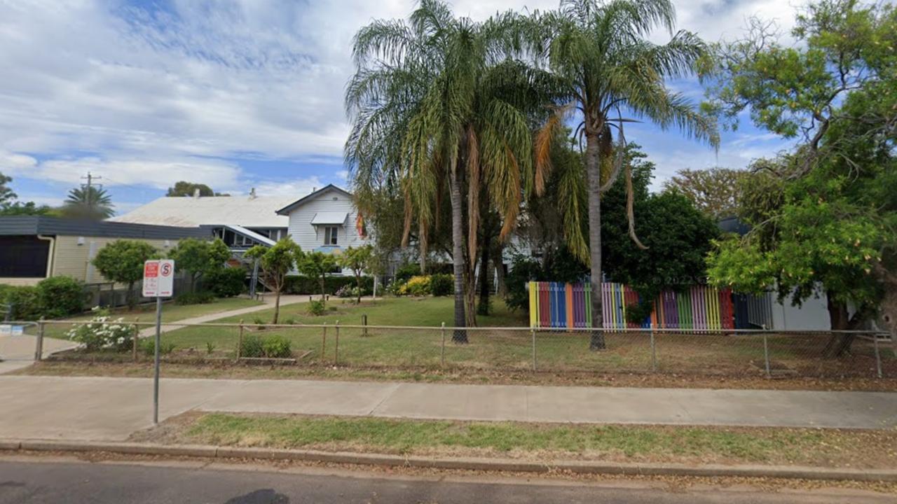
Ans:
[{"label": "grey asphalt road along the bottom of the photo", "polygon": [[334,470],[316,468],[276,470],[266,466],[95,464],[40,458],[0,460],[0,504],[825,504],[893,501],[893,496],[857,491],[798,494],[742,488],[669,492],[642,482],[527,482],[334,474]]}]

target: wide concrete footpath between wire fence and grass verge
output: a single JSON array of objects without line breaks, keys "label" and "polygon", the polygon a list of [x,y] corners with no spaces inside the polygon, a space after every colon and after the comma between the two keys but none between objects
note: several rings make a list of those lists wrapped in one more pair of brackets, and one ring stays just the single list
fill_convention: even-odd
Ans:
[{"label": "wide concrete footpath between wire fence and grass verge", "polygon": [[[878,429],[897,393],[533,387],[319,380],[161,381],[160,418],[188,410],[388,418]],[[150,427],[148,378],[0,377],[0,437],[126,439]]]}]

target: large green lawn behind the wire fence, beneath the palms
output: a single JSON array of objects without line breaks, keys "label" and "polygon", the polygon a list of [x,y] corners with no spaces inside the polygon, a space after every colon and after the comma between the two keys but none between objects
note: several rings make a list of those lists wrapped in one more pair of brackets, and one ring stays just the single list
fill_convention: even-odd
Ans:
[{"label": "large green lawn behind the wire fence, beneath the palms", "polygon": [[[290,340],[301,364],[337,364],[351,367],[439,368],[443,355],[440,324],[451,323],[451,298],[388,298],[361,305],[331,300],[327,314],[309,316],[307,305],[282,309],[281,323],[315,327],[267,327],[258,334],[282,335]],[[444,355],[448,367],[464,369],[532,369],[533,335],[528,329],[495,330],[494,327],[526,327],[524,313],[511,312],[501,300],[494,301],[489,317],[478,317],[479,327],[467,331],[466,344],[452,342],[445,332]],[[422,326],[414,328],[343,327],[335,341],[335,323],[360,325],[367,316],[370,326]],[[250,316],[222,318],[217,322],[265,323],[273,316],[267,309]],[[327,338],[321,325],[327,324]],[[251,329],[251,328],[250,328]],[[249,329],[244,333],[253,334]],[[185,327],[162,336],[177,349],[204,349],[206,343],[232,355],[239,341],[237,327]],[[536,332],[536,367],[557,371],[649,372],[652,369],[649,333],[605,334],[606,349],[590,352],[590,335],[584,332]],[[875,359],[871,343],[854,343],[853,352],[838,360],[823,360],[824,335],[770,336],[769,352],[774,372],[798,376],[872,377]],[[762,375],[763,341],[758,335],[655,334],[654,355],[658,371],[670,373],[735,376]],[[886,376],[897,373],[893,352],[883,352]]]}]

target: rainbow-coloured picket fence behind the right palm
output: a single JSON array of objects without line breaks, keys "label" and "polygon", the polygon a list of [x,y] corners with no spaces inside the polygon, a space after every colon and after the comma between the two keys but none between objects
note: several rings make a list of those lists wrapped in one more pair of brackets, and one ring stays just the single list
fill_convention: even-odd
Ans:
[{"label": "rainbow-coloured picket fence behind the right palm", "polygon": [[[649,317],[640,323],[626,320],[627,307],[640,301],[639,293],[623,283],[601,284],[602,326],[605,329],[671,328],[719,330],[736,328],[732,291],[705,285],[687,291],[661,292]],[[591,286],[584,283],[529,282],[529,323],[533,327],[585,328],[592,325]]]}]

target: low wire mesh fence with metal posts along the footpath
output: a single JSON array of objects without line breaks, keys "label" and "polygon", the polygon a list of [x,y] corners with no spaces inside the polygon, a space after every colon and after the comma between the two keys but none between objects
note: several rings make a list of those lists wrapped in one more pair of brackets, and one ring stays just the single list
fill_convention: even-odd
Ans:
[{"label": "low wire mesh fence with metal posts along the footpath", "polygon": [[[31,322],[26,335],[75,340],[54,359],[142,361],[151,321]],[[97,343],[84,335],[108,334]],[[81,329],[79,329],[81,328]],[[2,331],[0,331],[2,335]],[[124,335],[123,341],[121,335]],[[136,339],[133,336],[138,336]],[[2,337],[2,336],[0,336]],[[35,340],[42,338],[35,337]],[[108,338],[107,338],[108,339]],[[38,344],[37,342],[35,344]],[[2,347],[0,347],[2,348]],[[264,361],[344,368],[538,370],[710,376],[897,377],[897,347],[873,331],[686,331],[340,324],[164,325],[164,361]],[[0,355],[0,359],[3,356]]]}]

